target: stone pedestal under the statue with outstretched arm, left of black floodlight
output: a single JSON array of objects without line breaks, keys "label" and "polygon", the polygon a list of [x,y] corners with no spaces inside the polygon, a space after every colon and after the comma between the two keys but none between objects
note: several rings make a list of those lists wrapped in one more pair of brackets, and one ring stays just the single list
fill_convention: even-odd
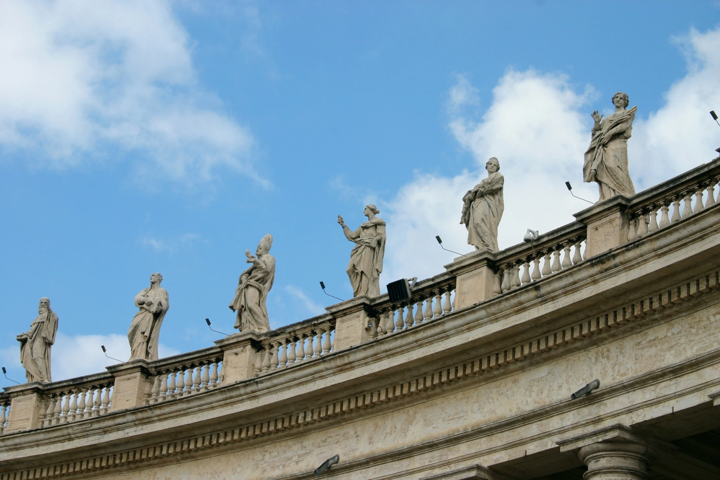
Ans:
[{"label": "stone pedestal under the statue with outstretched arm, left of black floodlight", "polygon": [[326,308],[336,320],[333,350],[343,350],[372,340],[372,327],[368,325],[367,316],[369,307],[370,299],[367,296],[356,296]]}]

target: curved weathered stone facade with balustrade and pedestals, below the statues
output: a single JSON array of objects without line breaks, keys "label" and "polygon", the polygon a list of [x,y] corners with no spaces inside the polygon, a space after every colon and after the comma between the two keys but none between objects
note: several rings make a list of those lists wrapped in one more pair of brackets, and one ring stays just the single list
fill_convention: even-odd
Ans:
[{"label": "curved weathered stone facade with balustrade and pedestals, below the statues", "polygon": [[719,176],[458,258],[409,307],[6,388],[0,480],[720,478]]}]

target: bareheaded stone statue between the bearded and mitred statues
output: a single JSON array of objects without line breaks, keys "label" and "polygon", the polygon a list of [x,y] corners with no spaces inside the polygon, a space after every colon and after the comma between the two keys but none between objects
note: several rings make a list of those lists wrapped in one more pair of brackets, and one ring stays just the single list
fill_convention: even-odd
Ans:
[{"label": "bareheaded stone statue between the bearded and mitred statues", "polygon": [[163,276],[160,273],[150,275],[150,286],[135,296],[135,307],[140,310],[132,317],[127,340],[130,341],[130,360],[158,359],[158,340],[160,327],[170,308],[168,291],[161,288]]}]

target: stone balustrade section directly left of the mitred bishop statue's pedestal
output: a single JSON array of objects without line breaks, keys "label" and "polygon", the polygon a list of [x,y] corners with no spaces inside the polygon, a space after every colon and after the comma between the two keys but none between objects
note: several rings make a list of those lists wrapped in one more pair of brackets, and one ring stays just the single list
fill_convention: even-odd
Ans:
[{"label": "stone balustrade section directly left of the mitred bishop statue's pedestal", "polygon": [[222,351],[216,347],[153,361],[148,404],[188,397],[222,383]]}]

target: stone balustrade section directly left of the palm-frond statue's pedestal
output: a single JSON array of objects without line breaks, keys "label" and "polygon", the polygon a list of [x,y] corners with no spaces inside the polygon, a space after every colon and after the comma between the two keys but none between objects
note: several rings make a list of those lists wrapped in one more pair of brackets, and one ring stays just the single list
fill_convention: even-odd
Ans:
[{"label": "stone balustrade section directly left of the palm-frond statue's pedestal", "polygon": [[573,222],[540,235],[532,243],[498,252],[493,294],[504,294],[582,262],[585,260],[582,243],[587,237],[585,224]]}]

